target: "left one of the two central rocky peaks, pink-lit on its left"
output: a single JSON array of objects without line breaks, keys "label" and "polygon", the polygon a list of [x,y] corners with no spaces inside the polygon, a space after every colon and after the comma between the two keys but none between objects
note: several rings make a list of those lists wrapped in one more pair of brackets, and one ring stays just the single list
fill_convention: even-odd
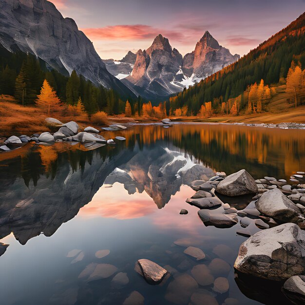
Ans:
[{"label": "left one of the two central rocky peaks, pink-lit on its left", "polygon": [[173,83],[181,66],[182,55],[160,34],[147,50],[137,52],[133,71],[122,82],[145,98],[164,97],[182,90]]}]

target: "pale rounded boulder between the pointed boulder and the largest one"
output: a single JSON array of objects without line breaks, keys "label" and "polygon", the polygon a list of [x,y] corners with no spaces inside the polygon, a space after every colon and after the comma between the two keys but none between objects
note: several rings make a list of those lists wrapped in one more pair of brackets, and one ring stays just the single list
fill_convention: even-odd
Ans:
[{"label": "pale rounded boulder between the pointed boulder and the largest one", "polygon": [[301,212],[279,189],[265,192],[255,206],[264,215],[281,221],[290,221]]}]

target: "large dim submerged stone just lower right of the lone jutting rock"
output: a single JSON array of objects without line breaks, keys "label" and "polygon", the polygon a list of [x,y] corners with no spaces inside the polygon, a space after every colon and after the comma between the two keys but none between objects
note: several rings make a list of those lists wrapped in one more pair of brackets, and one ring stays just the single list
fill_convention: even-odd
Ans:
[{"label": "large dim submerged stone just lower right of the lone jutting rock", "polygon": [[191,295],[198,288],[198,284],[189,274],[182,274],[174,278],[169,284],[165,299],[173,304],[188,304]]}]

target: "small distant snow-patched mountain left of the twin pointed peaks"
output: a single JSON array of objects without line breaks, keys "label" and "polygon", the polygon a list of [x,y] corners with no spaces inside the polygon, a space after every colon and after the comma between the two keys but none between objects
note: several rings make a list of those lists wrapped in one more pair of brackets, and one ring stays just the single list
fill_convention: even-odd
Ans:
[{"label": "small distant snow-patched mountain left of the twin pointed peaks", "polygon": [[136,54],[129,51],[121,60],[104,59],[107,70],[116,78],[122,79],[131,74],[136,60]]}]

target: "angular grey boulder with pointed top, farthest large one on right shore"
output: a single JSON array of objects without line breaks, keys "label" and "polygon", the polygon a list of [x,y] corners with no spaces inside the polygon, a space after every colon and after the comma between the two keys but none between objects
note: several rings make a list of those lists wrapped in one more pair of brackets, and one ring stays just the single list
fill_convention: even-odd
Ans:
[{"label": "angular grey boulder with pointed top, farthest large one on right shore", "polygon": [[216,191],[227,196],[239,196],[257,193],[258,189],[253,177],[246,170],[241,170],[220,181]]}]

